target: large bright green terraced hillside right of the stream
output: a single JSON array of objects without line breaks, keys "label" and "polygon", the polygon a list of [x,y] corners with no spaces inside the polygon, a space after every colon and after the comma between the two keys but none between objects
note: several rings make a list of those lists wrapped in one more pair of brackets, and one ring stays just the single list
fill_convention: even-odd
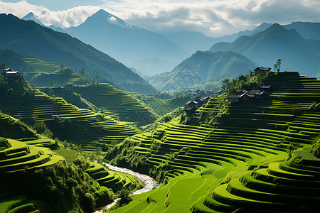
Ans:
[{"label": "large bright green terraced hillside right of the stream", "polygon": [[[220,124],[191,126],[174,119],[153,133],[125,139],[119,146],[134,144],[132,153],[120,153],[118,158],[135,162],[134,155],[139,155],[149,173],[167,185],[133,197],[133,202],[114,212],[319,208],[319,160],[306,153],[320,134],[320,81],[299,72],[274,72],[264,83],[272,85],[268,99],[228,104]],[[219,99],[223,98],[210,99],[197,111],[198,119],[201,114],[222,116]],[[299,151],[292,153],[294,148]],[[314,186],[309,195],[311,185],[306,180]]]}]

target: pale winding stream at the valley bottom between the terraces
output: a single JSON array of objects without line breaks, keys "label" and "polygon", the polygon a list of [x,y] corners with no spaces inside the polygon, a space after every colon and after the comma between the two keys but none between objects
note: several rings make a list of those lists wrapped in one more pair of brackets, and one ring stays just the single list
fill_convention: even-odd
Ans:
[{"label": "pale winding stream at the valley bottom between the terraces", "polygon": [[[130,175],[134,175],[134,177],[136,177],[139,180],[141,180],[142,182],[144,182],[144,187],[141,190],[137,190],[135,192],[132,192],[131,195],[139,195],[139,194],[144,193],[144,192],[149,192],[154,187],[156,187],[156,188],[159,187],[158,182],[156,182],[156,180],[154,180],[154,178],[151,178],[148,175],[136,173],[136,172],[134,172],[132,170],[129,170],[127,168],[119,168],[117,166],[110,165],[108,163],[102,163],[102,164],[105,165],[105,167],[107,167],[107,169],[109,169],[109,170],[116,171],[116,172],[121,172],[121,173],[127,173],[127,174],[130,174]],[[116,202],[118,200],[119,200],[119,198],[114,200],[114,202],[112,202],[110,204],[107,204],[107,206],[102,207],[101,209],[95,211],[95,213],[102,213],[103,210],[110,209],[111,207],[114,206],[114,204],[116,204]]]}]

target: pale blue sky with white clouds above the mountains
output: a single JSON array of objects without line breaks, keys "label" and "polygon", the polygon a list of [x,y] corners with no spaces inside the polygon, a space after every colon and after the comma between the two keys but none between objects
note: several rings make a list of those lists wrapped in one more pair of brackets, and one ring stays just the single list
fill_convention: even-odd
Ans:
[{"label": "pale blue sky with white clouds above the mountains", "polygon": [[9,0],[0,13],[33,12],[49,26],[78,26],[99,9],[157,33],[198,31],[211,37],[253,29],[263,22],[320,22],[320,0]]}]

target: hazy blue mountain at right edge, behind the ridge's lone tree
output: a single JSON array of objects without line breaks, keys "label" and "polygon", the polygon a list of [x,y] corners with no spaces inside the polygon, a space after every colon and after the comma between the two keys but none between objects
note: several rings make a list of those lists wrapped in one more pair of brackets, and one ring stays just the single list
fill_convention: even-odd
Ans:
[{"label": "hazy blue mountain at right edge, behind the ridge's lone tree", "polygon": [[306,39],[297,30],[287,30],[275,23],[255,35],[243,35],[233,43],[216,43],[210,51],[241,53],[265,67],[272,67],[281,59],[282,70],[299,70],[302,75],[314,76],[319,70],[319,48],[320,40]]}]

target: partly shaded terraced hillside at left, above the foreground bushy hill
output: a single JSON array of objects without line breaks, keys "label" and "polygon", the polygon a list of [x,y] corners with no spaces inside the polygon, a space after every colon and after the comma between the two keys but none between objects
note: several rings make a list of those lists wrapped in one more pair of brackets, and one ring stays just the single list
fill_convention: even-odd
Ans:
[{"label": "partly shaded terraced hillside at left, above the foreground bushy hill", "polygon": [[28,124],[44,121],[55,136],[78,143],[85,151],[95,151],[92,141],[101,140],[100,146],[109,146],[114,140],[139,133],[133,126],[110,116],[79,109],[62,98],[51,98],[38,89],[31,91],[28,99],[23,97],[26,93],[23,87],[0,95],[0,109]]}]

